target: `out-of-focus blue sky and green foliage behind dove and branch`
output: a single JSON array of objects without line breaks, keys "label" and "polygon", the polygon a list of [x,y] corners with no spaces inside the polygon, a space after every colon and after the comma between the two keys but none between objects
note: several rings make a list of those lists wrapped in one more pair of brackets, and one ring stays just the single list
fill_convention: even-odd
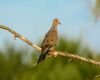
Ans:
[{"label": "out-of-focus blue sky and green foliage behind dove and branch", "polygon": [[[100,0],[0,0],[0,24],[41,45],[59,18],[58,51],[100,61]],[[68,58],[48,58],[0,29],[0,80],[100,80],[100,68]]]}]

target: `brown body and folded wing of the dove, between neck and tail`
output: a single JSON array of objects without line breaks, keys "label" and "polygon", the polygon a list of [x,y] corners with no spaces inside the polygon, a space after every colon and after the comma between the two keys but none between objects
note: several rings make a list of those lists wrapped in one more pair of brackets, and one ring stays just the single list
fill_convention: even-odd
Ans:
[{"label": "brown body and folded wing of the dove, between neck and tail", "polygon": [[43,52],[53,47],[58,40],[57,30],[50,29],[45,35],[41,48]]}]

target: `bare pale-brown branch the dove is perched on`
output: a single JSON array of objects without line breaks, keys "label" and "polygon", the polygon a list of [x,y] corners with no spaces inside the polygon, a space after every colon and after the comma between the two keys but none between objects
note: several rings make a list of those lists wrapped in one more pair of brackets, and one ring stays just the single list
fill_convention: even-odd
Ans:
[{"label": "bare pale-brown branch the dove is perched on", "polygon": [[[25,38],[21,34],[17,33],[16,31],[10,29],[9,27],[7,27],[5,25],[0,25],[0,28],[11,32],[14,35],[15,38],[18,37],[19,39],[21,39],[22,41],[26,42],[27,44],[29,44],[33,48],[37,49],[38,51],[41,51],[40,47],[38,47],[37,45],[33,44],[27,38]],[[53,52],[50,52],[50,53],[53,53]],[[93,64],[93,65],[96,65],[96,66],[100,67],[100,62],[97,62],[97,61],[95,61],[93,59],[88,59],[88,58],[81,57],[79,55],[75,55],[75,54],[71,54],[71,53],[67,53],[67,52],[56,52],[55,51],[54,53],[57,54],[57,56],[80,60],[80,61],[83,61],[83,62],[86,62],[86,63],[90,63],[90,64]]]}]

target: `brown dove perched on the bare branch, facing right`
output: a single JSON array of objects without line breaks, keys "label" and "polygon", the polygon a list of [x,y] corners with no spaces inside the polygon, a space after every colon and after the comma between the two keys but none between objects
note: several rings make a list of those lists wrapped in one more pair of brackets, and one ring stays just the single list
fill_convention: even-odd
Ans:
[{"label": "brown dove perched on the bare branch, facing right", "polygon": [[58,40],[58,31],[57,27],[61,24],[58,18],[55,18],[52,22],[52,26],[50,30],[45,34],[44,40],[41,44],[41,54],[39,56],[39,59],[37,61],[37,64],[42,62],[45,58],[48,52],[54,48],[54,46],[57,43]]}]

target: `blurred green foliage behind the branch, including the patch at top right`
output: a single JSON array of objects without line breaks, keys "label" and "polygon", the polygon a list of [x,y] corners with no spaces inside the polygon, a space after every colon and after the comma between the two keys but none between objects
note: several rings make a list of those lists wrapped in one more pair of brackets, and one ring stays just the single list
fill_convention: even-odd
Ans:
[{"label": "blurred green foliage behind the branch, including the patch at top right", "polygon": [[[100,0],[96,0],[94,7],[90,8],[95,20],[99,21]],[[100,61],[100,52],[93,52],[90,46],[83,48],[81,44],[81,37],[72,40],[62,35],[56,50]],[[100,67],[64,57],[47,58],[33,67],[40,53],[22,46],[16,49],[16,44],[5,42],[5,48],[0,50],[0,80],[100,80]]]}]

